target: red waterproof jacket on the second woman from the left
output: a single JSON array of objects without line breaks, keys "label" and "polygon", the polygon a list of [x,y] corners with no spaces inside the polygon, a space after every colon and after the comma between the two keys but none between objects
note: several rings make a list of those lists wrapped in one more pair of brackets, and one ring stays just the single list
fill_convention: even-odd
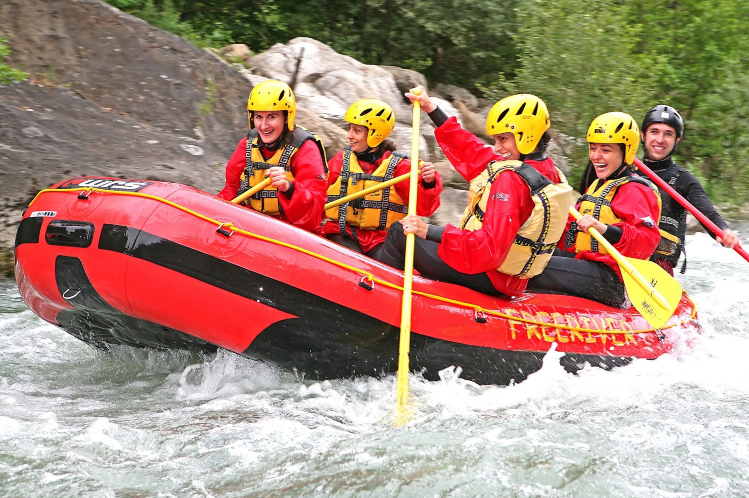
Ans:
[{"label": "red waterproof jacket on the second woman from the left", "polygon": [[[375,169],[380,167],[380,164],[382,164],[383,161],[388,160],[390,154],[392,154],[390,151],[386,151],[380,159],[375,161],[375,163],[366,163],[365,161],[360,160],[359,166],[365,173],[372,173],[372,171],[375,171]],[[336,180],[338,180],[342,166],[343,151],[340,151],[328,162],[329,186],[333,185],[333,183],[336,183]],[[410,160],[404,159],[398,163],[398,166],[395,168],[395,172],[392,175],[393,177],[397,177],[401,174],[406,174],[409,171],[411,171],[411,162]],[[398,196],[405,204],[408,204],[408,185],[409,180],[405,180],[401,181],[401,183],[396,183],[395,186],[393,186],[395,192],[398,192]],[[440,207],[440,193],[442,193],[442,177],[440,177],[439,173],[434,174],[434,183],[431,183],[428,186],[424,185],[423,180],[419,176],[419,193],[416,200],[416,214],[418,216],[431,216],[434,211],[437,210],[437,207]],[[351,225],[348,223],[346,223],[346,231],[351,235]],[[341,233],[341,231],[339,230],[337,222],[329,221],[323,225],[323,234],[339,233]],[[357,230],[359,245],[364,252],[369,252],[375,246],[383,243],[386,234],[387,230]]]}]

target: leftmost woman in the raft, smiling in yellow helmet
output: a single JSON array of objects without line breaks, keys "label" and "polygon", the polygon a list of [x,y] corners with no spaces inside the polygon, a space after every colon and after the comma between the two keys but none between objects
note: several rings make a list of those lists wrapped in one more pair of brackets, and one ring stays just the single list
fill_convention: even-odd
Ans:
[{"label": "leftmost woman in the raft, smiling in yellow helmet", "polygon": [[226,165],[219,197],[230,201],[270,178],[270,185],[242,204],[316,231],[326,199],[325,151],[318,136],[294,124],[296,116],[297,101],[286,83],[270,80],[252,88],[249,133]]}]

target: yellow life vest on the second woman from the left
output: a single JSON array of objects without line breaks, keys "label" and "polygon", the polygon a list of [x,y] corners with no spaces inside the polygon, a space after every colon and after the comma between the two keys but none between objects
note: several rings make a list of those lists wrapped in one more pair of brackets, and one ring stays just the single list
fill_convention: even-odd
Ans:
[{"label": "yellow life vest on the second woman from the left", "polygon": [[[395,168],[404,154],[392,152],[388,160],[383,161],[372,174],[365,173],[351,148],[345,148],[341,174],[328,187],[328,202],[361,192],[377,183],[392,179]],[[403,219],[408,213],[408,206],[395,191],[394,186],[377,190],[371,194],[348,201],[340,206],[325,211],[325,216],[336,220],[342,234],[346,233],[346,223],[363,230],[386,230],[394,222]]]}]

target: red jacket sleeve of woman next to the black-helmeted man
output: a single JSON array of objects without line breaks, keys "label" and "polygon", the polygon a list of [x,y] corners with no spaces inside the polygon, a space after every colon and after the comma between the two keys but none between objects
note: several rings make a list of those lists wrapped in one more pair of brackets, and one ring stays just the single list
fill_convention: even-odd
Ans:
[{"label": "red jacket sleeve of woman next to the black-helmeted man", "polygon": [[616,192],[611,209],[623,220],[611,225],[622,231],[614,248],[629,258],[649,258],[661,240],[658,194],[640,183],[626,183]]}]

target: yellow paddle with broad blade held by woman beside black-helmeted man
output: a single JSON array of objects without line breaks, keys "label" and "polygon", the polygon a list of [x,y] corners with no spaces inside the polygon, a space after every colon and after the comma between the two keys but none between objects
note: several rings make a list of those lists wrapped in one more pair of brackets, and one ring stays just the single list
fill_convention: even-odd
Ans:
[{"label": "yellow paddle with broad blade held by woman beside black-helmeted man", "polygon": [[[569,212],[574,219],[583,217],[574,207],[570,207]],[[619,264],[624,288],[635,309],[654,329],[663,327],[679,306],[682,285],[652,261],[622,256],[595,228],[588,228],[588,233]]]}]

